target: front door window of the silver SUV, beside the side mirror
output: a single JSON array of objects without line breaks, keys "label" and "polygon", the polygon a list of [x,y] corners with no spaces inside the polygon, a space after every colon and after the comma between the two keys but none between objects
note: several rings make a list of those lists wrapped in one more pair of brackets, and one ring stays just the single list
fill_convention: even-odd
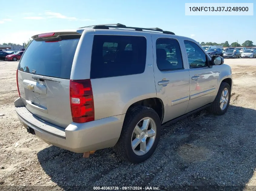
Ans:
[{"label": "front door window of the silver SUV, beside the side mirror", "polygon": [[207,59],[203,50],[191,41],[184,40],[184,43],[186,48],[191,48],[191,51],[187,52],[189,67],[207,66]]}]

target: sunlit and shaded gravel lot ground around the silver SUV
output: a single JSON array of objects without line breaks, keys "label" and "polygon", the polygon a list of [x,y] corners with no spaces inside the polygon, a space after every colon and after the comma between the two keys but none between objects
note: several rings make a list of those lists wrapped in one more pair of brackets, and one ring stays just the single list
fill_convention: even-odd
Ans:
[{"label": "sunlit and shaded gravel lot ground around the silver SUV", "polygon": [[13,104],[18,62],[0,61],[0,190],[256,190],[256,59],[225,63],[234,79],[228,112],[214,116],[203,110],[166,124],[153,156],[133,165],[121,161],[112,148],[86,159],[28,134]]}]

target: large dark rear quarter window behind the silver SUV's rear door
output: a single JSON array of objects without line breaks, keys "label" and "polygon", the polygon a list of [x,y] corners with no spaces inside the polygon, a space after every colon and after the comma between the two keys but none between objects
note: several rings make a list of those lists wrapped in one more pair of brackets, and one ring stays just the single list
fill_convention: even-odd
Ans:
[{"label": "large dark rear quarter window behind the silver SUV's rear door", "polygon": [[91,55],[91,78],[141,74],[145,70],[145,37],[95,35]]}]

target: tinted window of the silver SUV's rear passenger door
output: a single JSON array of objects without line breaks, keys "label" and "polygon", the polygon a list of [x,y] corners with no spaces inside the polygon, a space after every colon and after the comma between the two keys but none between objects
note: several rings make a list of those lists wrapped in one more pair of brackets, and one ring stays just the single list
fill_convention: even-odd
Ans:
[{"label": "tinted window of the silver SUV's rear passenger door", "polygon": [[161,71],[183,68],[177,40],[161,38],[156,41],[156,63]]}]

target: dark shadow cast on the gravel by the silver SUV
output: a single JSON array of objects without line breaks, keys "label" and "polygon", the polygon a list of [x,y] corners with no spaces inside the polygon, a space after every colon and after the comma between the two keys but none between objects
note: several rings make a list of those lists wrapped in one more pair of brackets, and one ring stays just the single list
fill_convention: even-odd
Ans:
[{"label": "dark shadow cast on the gravel by the silver SUV", "polygon": [[[179,186],[194,190],[247,190],[256,167],[256,110],[230,106],[222,116],[206,110],[162,127],[155,153],[141,164],[122,161],[113,148],[90,158],[50,146],[38,161],[51,180],[64,190],[93,186]],[[254,183],[255,184],[255,183]],[[76,187],[75,187],[76,186]]]}]

